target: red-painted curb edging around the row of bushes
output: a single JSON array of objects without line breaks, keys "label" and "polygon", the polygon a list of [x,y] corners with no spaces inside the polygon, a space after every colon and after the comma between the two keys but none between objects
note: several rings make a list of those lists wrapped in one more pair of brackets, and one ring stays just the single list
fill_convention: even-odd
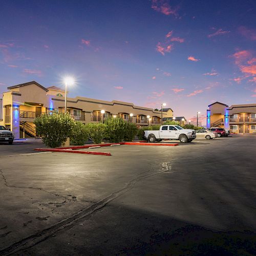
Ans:
[{"label": "red-painted curb edging around the row of bushes", "polygon": [[147,143],[144,141],[139,142],[120,142],[120,143],[101,143],[101,144],[88,144],[83,146],[69,146],[69,147],[57,147],[57,148],[35,148],[35,151],[45,152],[66,152],[75,154],[88,154],[88,155],[101,155],[111,156],[111,153],[94,152],[94,151],[79,151],[81,148],[95,148],[103,146],[118,146],[118,145],[139,145],[139,146],[178,146],[178,143]]}]

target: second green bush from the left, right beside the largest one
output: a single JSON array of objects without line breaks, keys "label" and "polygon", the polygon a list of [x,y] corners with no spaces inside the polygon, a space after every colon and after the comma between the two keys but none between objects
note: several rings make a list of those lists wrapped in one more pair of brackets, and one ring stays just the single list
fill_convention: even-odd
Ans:
[{"label": "second green bush from the left, right beside the largest one", "polygon": [[82,146],[86,144],[88,138],[89,134],[86,125],[81,122],[75,122],[70,136],[70,143],[72,145]]}]

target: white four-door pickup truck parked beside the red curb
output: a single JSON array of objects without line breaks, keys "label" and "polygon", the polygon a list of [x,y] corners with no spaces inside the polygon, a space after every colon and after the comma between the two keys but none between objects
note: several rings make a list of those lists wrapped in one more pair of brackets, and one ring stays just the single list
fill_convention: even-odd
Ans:
[{"label": "white four-door pickup truck parked beside the red curb", "polygon": [[196,139],[196,131],[183,129],[179,125],[161,125],[159,131],[144,131],[148,142],[160,140],[180,140],[181,143],[191,142]]}]

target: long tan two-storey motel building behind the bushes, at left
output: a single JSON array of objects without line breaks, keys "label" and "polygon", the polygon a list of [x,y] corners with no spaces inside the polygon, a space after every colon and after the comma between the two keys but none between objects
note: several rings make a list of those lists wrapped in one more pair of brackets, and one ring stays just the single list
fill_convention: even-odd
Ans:
[{"label": "long tan two-storey motel building behind the bushes, at left", "polygon": [[[53,111],[65,112],[65,91],[52,86],[45,88],[36,81],[17,84],[3,93],[3,110],[0,125],[10,129],[18,138],[36,137],[33,121],[42,114]],[[105,113],[102,114],[101,111]],[[154,111],[143,106],[122,101],[104,101],[85,97],[67,98],[67,111],[76,121],[82,123],[103,122],[109,117],[120,117],[138,126],[160,124],[163,117],[173,116],[173,112]]]}]

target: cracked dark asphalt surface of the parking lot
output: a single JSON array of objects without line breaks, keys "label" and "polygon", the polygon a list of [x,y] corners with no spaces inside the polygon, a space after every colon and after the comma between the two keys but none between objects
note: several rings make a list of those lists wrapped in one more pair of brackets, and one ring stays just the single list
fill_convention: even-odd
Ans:
[{"label": "cracked dark asphalt surface of the parking lot", "polygon": [[36,153],[0,143],[0,255],[256,254],[256,136]]}]

